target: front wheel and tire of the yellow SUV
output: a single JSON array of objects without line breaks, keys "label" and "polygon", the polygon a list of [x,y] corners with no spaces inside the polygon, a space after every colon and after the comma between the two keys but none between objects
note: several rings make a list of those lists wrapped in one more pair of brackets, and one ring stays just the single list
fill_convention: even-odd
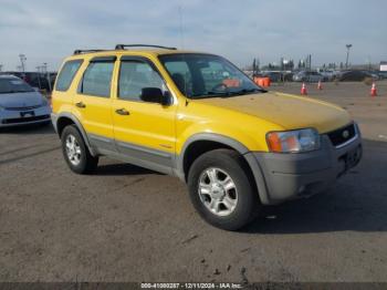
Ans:
[{"label": "front wheel and tire of the yellow SUV", "polygon": [[[220,180],[220,185],[211,182],[210,176]],[[216,149],[199,156],[190,167],[188,188],[199,215],[221,229],[238,230],[247,226],[261,208],[253,176],[243,157],[234,151]]]}]

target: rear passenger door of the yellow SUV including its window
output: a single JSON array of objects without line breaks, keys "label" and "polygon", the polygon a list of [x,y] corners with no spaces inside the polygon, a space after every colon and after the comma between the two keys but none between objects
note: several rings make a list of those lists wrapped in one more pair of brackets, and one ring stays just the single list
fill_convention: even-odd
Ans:
[{"label": "rear passenger door of the yellow SUV including its window", "polygon": [[91,59],[74,97],[74,114],[98,152],[115,151],[112,120],[112,83],[116,56]]}]

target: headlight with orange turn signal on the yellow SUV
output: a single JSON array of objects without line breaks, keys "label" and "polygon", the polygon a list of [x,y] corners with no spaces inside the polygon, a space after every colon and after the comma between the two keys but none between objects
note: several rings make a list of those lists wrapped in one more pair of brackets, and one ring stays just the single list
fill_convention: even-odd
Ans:
[{"label": "headlight with orange turn signal on the yellow SUV", "polygon": [[284,132],[270,132],[266,142],[271,152],[297,153],[320,148],[320,135],[314,128],[303,128]]}]

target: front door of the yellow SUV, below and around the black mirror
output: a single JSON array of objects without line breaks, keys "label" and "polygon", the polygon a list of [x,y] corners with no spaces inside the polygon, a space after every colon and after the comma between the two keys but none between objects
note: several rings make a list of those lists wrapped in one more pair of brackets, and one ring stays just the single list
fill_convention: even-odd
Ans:
[{"label": "front door of the yellow SUV, below and around the black mirror", "polygon": [[123,56],[113,103],[117,149],[140,166],[170,173],[175,154],[176,102],[170,105],[142,101],[143,89],[169,93],[161,74],[145,58]]}]

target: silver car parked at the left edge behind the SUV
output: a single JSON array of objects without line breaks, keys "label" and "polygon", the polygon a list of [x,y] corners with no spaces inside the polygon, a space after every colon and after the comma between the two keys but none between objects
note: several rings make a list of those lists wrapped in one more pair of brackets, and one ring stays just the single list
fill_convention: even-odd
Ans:
[{"label": "silver car parked at the left edge behind the SUV", "polygon": [[0,75],[0,127],[50,123],[48,100],[23,80]]}]

